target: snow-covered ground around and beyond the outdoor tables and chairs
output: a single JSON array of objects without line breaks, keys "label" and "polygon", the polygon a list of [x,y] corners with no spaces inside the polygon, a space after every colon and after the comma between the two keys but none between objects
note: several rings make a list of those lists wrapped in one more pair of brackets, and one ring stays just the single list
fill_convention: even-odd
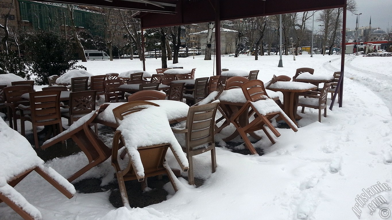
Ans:
[{"label": "snow-covered ground around and beyond the outdoor tables and chairs", "polygon": [[[278,61],[276,55],[262,56],[258,61],[244,55],[225,56],[222,68],[260,70],[258,79],[264,82],[273,75],[292,77],[300,67],[331,75],[340,69],[338,55],[299,55],[296,61],[292,56],[283,56],[283,68],[277,67]],[[263,156],[217,148],[215,173],[211,173],[209,153],[194,157],[195,175],[206,179],[203,186],[194,188],[180,178],[182,184],[176,193],[170,183],[165,185],[171,195],[159,204],[115,209],[109,203],[109,192],[77,193],[68,200],[35,173],[16,189],[46,220],[392,219],[388,216],[392,209],[391,61],[392,57],[347,55],[342,108],[336,103],[333,111],[328,109],[327,118],[322,117],[322,123],[318,122],[318,110],[299,113],[303,119],[298,122],[298,132],[278,129],[281,136],[275,138],[276,144],[271,145],[268,139],[254,144],[263,148]],[[160,63],[160,59],[147,59],[146,71],[154,73]],[[93,75],[142,69],[138,59],[82,64]],[[214,61],[204,61],[203,56],[180,58],[180,64],[197,68],[195,77],[214,73]],[[217,141],[224,145],[221,138],[233,129],[224,129],[216,136]],[[169,157],[168,162],[175,166],[174,157]],[[45,165],[67,176],[86,163],[87,158],[80,153]],[[89,177],[103,177],[103,184],[113,180],[110,161],[81,178]],[[379,205],[380,202],[385,203]],[[0,213],[1,220],[21,219],[4,203],[0,204]]]}]

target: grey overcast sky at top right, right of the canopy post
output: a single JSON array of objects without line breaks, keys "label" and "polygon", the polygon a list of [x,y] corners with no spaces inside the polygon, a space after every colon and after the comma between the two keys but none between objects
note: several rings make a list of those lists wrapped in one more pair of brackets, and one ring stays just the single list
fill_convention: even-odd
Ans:
[{"label": "grey overcast sky at top right, right of the canopy post", "polygon": [[[372,16],[372,27],[380,27],[387,31],[392,26],[392,0],[356,0],[357,12],[359,16],[359,27],[368,26],[370,16]],[[355,29],[357,16],[347,12],[347,27]],[[389,24],[388,24],[389,23]]]}]

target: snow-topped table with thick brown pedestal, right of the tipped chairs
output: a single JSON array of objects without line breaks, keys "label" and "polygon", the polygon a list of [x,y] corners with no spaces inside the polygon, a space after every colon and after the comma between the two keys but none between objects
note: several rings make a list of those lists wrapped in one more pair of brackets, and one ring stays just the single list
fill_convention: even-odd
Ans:
[{"label": "snow-topped table with thick brown pedestal, right of the tipped chairs", "polygon": [[283,111],[298,126],[296,120],[301,119],[301,116],[297,115],[297,93],[317,89],[317,86],[305,82],[278,81],[270,85],[268,89],[272,91],[281,91],[283,93]]}]

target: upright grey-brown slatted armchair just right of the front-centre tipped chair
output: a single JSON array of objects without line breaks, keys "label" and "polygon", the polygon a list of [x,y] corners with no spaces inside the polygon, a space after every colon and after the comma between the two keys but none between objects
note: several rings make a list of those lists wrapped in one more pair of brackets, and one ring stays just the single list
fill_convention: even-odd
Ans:
[{"label": "upright grey-brown slatted armchair just right of the front-centre tipped chair", "polygon": [[[172,129],[174,133],[185,133],[183,151],[189,161],[188,182],[194,184],[193,156],[211,150],[212,173],[216,169],[215,153],[215,114],[219,102],[189,107],[185,129]],[[203,145],[203,146],[201,146]]]}]

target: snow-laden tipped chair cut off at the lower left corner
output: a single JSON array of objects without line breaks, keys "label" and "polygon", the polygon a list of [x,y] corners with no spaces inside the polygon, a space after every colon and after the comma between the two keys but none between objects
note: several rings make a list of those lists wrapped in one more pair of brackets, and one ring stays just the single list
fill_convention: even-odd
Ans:
[{"label": "snow-laden tipped chair cut off at the lower left corner", "polygon": [[[71,199],[76,190],[64,177],[52,168],[44,166],[31,144],[17,131],[0,119],[0,202],[5,202],[26,220],[40,220],[40,211],[31,205],[18,191],[16,184],[35,171],[58,191]],[[18,144],[15,144],[17,140]],[[10,147],[12,146],[12,147]]]}]

